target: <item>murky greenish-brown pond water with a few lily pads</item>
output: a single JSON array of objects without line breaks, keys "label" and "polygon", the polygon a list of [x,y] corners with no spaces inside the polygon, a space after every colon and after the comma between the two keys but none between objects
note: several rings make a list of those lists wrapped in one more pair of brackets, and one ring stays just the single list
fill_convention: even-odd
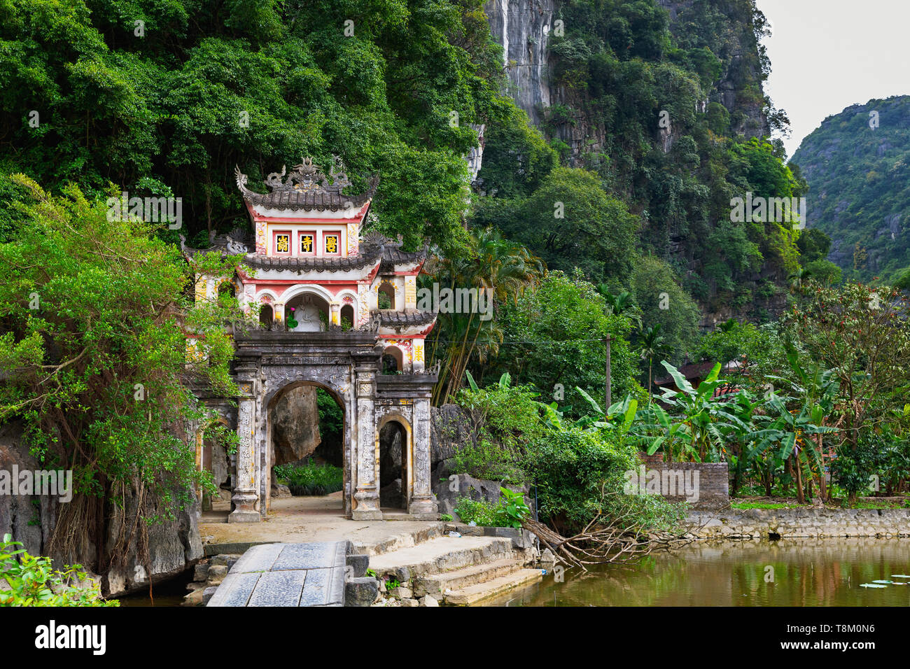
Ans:
[{"label": "murky greenish-brown pond water with a few lily pads", "polygon": [[[771,567],[771,569],[768,569]],[[632,567],[552,574],[483,606],[907,606],[910,540],[699,543]],[[766,582],[767,579],[773,579]],[[873,581],[904,582],[865,588]]]}]

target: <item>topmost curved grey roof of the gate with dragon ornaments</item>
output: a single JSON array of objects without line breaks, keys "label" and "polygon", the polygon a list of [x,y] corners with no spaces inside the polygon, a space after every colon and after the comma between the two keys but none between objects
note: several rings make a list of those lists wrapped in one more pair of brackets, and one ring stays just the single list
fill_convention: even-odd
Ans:
[{"label": "topmost curved grey roof of the gate with dragon ornaments", "polygon": [[362,208],[376,194],[379,177],[371,177],[365,193],[360,195],[345,195],[342,191],[349,187],[348,175],[335,167],[329,169],[326,177],[319,165],[313,164],[312,158],[304,158],[303,162],[291,169],[288,178],[282,180],[287,167],[281,167],[281,173],[272,172],[262,183],[270,192],[257,193],[247,188],[247,175],[240,172],[239,167],[234,168],[237,177],[237,187],[243,198],[251,205],[258,205],[270,209],[291,210],[318,210],[340,211],[350,208]]}]

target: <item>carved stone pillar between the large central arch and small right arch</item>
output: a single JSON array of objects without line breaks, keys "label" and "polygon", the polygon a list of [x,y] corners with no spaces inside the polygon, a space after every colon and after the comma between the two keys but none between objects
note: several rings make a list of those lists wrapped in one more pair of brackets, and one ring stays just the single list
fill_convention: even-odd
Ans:
[{"label": "carved stone pillar between the large central arch and small right arch", "polygon": [[382,520],[379,511],[379,485],[376,481],[376,370],[358,368],[357,392],[357,487],[351,512],[355,521]]}]

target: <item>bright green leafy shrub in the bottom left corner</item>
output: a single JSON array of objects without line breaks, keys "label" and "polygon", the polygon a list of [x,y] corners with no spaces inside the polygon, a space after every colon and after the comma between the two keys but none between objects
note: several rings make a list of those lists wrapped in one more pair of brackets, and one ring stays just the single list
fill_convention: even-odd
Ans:
[{"label": "bright green leafy shrub in the bottom left corner", "polygon": [[82,565],[63,571],[54,569],[50,558],[35,557],[17,549],[5,534],[0,542],[0,606],[119,606],[116,600],[101,597],[97,581],[88,578]]}]

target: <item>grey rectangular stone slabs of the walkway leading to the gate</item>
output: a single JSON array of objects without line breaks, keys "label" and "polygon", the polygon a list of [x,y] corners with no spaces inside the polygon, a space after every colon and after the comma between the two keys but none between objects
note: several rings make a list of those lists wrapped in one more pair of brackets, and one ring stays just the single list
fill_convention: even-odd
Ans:
[{"label": "grey rectangular stone slabs of the walkway leading to the gate", "polygon": [[265,543],[243,554],[208,606],[342,606],[348,542]]}]

